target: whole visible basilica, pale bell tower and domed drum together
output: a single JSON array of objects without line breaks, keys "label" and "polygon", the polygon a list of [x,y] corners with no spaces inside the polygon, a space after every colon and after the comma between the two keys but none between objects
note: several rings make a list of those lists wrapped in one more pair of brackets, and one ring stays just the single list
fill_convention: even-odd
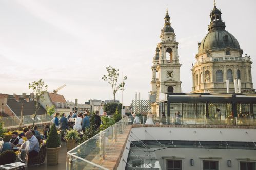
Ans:
[{"label": "whole visible basilica, pale bell tower and domed drum together", "polygon": [[[179,43],[176,41],[168,10],[164,20],[151,67],[151,111],[156,115],[168,108],[166,94],[182,93]],[[240,93],[255,93],[250,56],[243,55],[238,40],[225,28],[222,13],[214,4],[210,13],[209,32],[198,43],[196,63],[192,64],[192,93],[234,93],[238,86]]]}]

